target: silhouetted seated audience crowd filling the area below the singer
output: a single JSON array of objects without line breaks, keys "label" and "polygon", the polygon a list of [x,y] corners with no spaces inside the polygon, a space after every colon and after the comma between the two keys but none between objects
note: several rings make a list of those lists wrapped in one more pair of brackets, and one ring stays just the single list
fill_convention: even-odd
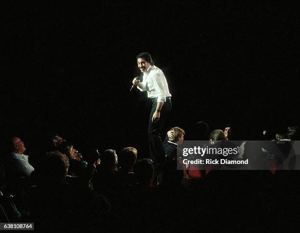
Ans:
[{"label": "silhouetted seated audience crowd filling the area below the singer", "polygon": [[[210,146],[241,140],[231,124],[224,131],[210,132],[200,121],[195,131],[194,140],[205,140]],[[48,152],[32,164],[25,155],[25,142],[17,135],[8,137],[0,161],[1,222],[33,222],[35,230],[45,231],[278,231],[297,227],[299,171],[278,170],[278,157],[264,150],[260,151],[266,167],[262,170],[184,166],[177,158],[184,136],[180,127],[168,131],[163,142],[166,162],[159,173],[153,161],[140,159],[133,147],[85,155],[59,135],[49,139]],[[264,130],[257,140],[300,140],[299,128]]]}]

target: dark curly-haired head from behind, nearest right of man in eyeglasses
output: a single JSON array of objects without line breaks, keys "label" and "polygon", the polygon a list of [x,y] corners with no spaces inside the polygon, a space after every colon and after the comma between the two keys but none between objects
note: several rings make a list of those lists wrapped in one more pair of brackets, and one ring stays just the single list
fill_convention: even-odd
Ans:
[{"label": "dark curly-haired head from behind, nearest right of man in eyeglasses", "polygon": [[46,153],[44,162],[46,166],[41,170],[43,181],[61,181],[66,178],[69,169],[69,159],[59,151]]}]

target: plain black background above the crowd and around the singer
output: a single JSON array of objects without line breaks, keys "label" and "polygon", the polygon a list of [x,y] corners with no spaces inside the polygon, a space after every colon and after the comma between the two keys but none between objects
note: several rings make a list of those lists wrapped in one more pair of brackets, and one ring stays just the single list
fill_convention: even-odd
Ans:
[{"label": "plain black background above the crowd and around the singer", "polygon": [[27,152],[59,133],[82,150],[147,156],[150,109],[129,92],[142,51],[173,95],[166,128],[187,140],[200,120],[252,140],[299,122],[296,2],[28,1],[4,11],[1,131]]}]

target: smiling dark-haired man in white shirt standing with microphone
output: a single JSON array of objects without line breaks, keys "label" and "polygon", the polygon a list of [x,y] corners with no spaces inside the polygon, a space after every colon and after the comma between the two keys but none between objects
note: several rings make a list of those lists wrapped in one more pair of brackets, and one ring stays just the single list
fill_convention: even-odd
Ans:
[{"label": "smiling dark-haired man in white shirt standing with microphone", "polygon": [[136,58],[138,68],[143,73],[143,82],[134,78],[132,83],[139,90],[147,91],[148,98],[152,102],[148,127],[150,157],[154,160],[155,170],[160,172],[166,162],[166,156],[160,139],[160,131],[171,111],[171,94],[164,73],[154,66],[150,54],[142,52]]}]

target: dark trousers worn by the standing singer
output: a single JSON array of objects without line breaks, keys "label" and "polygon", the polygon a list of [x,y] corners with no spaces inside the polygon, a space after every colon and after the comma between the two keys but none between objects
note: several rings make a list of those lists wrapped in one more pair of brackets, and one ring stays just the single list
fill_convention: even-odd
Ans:
[{"label": "dark trousers worn by the standing singer", "polygon": [[159,120],[157,122],[152,122],[152,116],[157,107],[157,98],[150,98],[150,101],[152,102],[152,109],[148,127],[150,157],[154,162],[155,170],[159,171],[166,163],[166,155],[160,138],[160,132],[164,126],[167,116],[171,111],[172,102],[171,97],[166,97],[166,102],[161,109]]}]

